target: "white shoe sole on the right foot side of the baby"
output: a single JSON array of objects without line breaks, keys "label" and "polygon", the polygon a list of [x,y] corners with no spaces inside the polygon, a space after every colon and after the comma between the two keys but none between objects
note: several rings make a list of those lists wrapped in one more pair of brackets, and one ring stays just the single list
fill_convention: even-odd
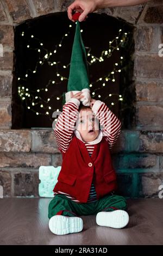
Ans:
[{"label": "white shoe sole on the right foot side of the baby", "polygon": [[101,211],[96,215],[96,223],[110,228],[124,228],[129,222],[129,215],[124,210]]}]

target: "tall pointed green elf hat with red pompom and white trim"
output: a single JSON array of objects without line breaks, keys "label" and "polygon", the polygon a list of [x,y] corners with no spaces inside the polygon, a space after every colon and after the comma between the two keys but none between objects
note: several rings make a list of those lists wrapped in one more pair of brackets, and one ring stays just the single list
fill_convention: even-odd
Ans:
[{"label": "tall pointed green elf hat with red pompom and white trim", "polygon": [[[65,101],[71,99],[71,92],[76,94],[83,92],[83,96],[80,101],[84,106],[90,106],[90,81],[89,70],[87,65],[86,51],[80,32],[80,24],[78,18],[81,13],[75,13],[72,17],[74,21],[77,21],[76,33],[74,36],[71,63],[70,63],[70,75],[68,78],[67,93],[65,94]],[[63,102],[64,103],[64,102]]]}]

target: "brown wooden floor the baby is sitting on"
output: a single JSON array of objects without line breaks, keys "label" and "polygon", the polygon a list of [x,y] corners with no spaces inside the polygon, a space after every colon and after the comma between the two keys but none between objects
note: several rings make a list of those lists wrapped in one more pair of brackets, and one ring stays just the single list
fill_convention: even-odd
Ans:
[{"label": "brown wooden floor the baby is sitting on", "polygon": [[48,229],[52,198],[0,199],[0,245],[162,245],[163,199],[128,199],[130,221],[123,229],[100,227],[82,216],[80,233],[54,235]]}]

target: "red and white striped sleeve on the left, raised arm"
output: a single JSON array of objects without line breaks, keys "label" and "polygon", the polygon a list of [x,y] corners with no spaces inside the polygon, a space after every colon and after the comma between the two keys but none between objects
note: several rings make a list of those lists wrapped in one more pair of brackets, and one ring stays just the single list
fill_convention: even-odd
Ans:
[{"label": "red and white striped sleeve on the left, raised arm", "polygon": [[74,124],[78,118],[78,108],[80,101],[71,98],[62,107],[62,113],[59,115],[54,128],[54,135],[57,141],[58,149],[61,153],[65,153],[68,145],[72,140]]}]

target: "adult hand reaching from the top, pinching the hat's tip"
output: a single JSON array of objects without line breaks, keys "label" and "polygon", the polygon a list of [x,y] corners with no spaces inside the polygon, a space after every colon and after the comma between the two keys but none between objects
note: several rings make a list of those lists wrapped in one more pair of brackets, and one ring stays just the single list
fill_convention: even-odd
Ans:
[{"label": "adult hand reaching from the top, pinching the hat's tip", "polygon": [[85,19],[88,17],[87,14],[92,13],[93,11],[96,11],[98,9],[97,7],[97,1],[92,0],[75,0],[69,7],[68,7],[68,18],[74,22],[72,19],[73,11],[76,11],[78,13],[82,13],[79,16],[79,21],[85,21]]}]

